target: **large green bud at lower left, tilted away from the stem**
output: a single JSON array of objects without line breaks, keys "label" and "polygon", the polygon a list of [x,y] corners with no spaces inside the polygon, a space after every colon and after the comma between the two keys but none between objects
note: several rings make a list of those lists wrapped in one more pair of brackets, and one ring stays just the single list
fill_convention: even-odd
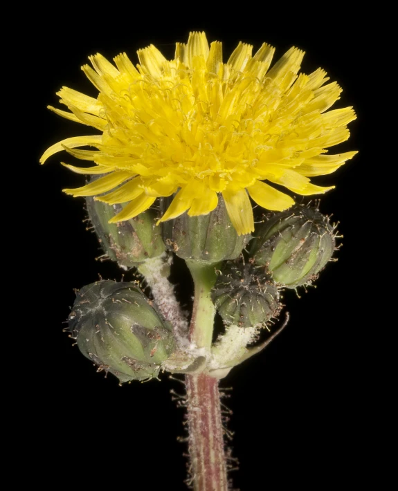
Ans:
[{"label": "large green bud at lower left, tilted away from the stem", "polygon": [[170,324],[132,283],[84,286],[76,294],[69,330],[83,355],[120,382],[156,377],[174,351]]}]

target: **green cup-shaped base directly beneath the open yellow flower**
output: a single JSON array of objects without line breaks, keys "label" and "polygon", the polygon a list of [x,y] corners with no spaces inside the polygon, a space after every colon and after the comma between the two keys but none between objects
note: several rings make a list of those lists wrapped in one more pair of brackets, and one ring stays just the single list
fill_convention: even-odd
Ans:
[{"label": "green cup-shaped base directly beneath the open yellow flower", "polygon": [[[163,200],[163,207],[167,203]],[[163,240],[170,250],[182,259],[217,263],[236,259],[250,234],[238,235],[233,227],[222,196],[218,205],[207,215],[188,216],[183,213],[174,220],[162,223]]]}]

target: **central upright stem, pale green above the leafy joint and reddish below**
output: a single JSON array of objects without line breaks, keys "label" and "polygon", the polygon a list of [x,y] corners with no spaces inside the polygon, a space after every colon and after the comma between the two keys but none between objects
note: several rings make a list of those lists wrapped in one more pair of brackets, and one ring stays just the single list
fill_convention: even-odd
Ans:
[{"label": "central upright stem, pale green above the leafy joint and reddish below", "polygon": [[[215,306],[210,293],[217,275],[215,264],[187,260],[195,284],[190,342],[210,359]],[[227,491],[224,434],[219,380],[208,373],[186,375],[188,441],[194,491]]]}]

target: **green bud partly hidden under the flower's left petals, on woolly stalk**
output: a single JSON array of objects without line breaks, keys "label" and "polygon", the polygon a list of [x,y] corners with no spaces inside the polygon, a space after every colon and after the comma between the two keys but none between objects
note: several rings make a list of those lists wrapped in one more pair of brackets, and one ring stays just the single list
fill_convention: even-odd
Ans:
[{"label": "green bud partly hidden under the flower's left petals, on woolly stalk", "polygon": [[130,219],[118,223],[108,223],[123,205],[108,205],[87,197],[87,211],[98,240],[105,254],[118,261],[123,268],[132,268],[145,259],[158,257],[165,252],[161,230],[156,227],[156,216],[147,210]]}]

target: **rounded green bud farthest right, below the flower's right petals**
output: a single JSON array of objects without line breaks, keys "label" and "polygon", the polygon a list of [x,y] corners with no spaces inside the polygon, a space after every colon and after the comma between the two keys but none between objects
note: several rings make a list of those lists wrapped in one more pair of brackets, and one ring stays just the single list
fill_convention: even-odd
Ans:
[{"label": "rounded green bud farthest right, below the flower's right petals", "polygon": [[273,214],[255,230],[255,236],[249,254],[287,288],[311,284],[336,244],[328,217],[305,205]]}]

